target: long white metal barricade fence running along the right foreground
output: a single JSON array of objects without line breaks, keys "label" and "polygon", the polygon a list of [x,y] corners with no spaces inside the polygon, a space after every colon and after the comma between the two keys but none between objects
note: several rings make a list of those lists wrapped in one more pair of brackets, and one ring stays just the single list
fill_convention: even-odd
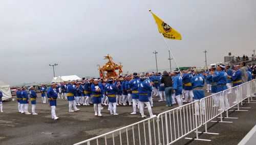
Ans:
[{"label": "long white metal barricade fence running along the right foreground", "polygon": [[[243,101],[252,100],[256,93],[256,80],[246,82],[236,87],[206,96],[201,100],[185,104],[150,117],[135,124],[122,127],[120,129],[81,141],[76,143],[90,144],[172,144],[186,135],[195,132],[195,140],[210,141],[209,139],[200,139],[198,129],[205,127],[206,134],[219,134],[207,131],[207,123],[217,122],[215,118],[220,118],[221,123],[232,123],[223,121],[223,113],[226,111],[225,118],[228,117],[228,111],[231,108],[241,110]],[[251,100],[250,100],[251,98]],[[237,107],[236,107],[237,106]],[[220,117],[218,117],[220,116]],[[192,139],[192,138],[186,138]]]}]

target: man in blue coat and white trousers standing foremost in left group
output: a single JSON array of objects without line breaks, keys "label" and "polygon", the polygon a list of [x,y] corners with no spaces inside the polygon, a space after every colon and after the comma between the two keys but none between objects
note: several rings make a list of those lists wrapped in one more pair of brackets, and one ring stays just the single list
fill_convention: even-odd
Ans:
[{"label": "man in blue coat and white trousers standing foremost in left group", "polygon": [[57,120],[59,117],[56,116],[56,105],[57,105],[57,93],[54,91],[55,83],[51,84],[51,87],[47,90],[47,95],[49,97],[49,104],[51,106],[51,114],[52,114],[52,119]]}]

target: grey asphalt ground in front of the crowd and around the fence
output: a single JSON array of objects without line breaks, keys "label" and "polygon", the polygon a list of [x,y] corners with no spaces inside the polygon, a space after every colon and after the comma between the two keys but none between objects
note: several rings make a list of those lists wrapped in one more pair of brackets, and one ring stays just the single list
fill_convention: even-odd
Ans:
[{"label": "grey asphalt ground in front of the crowd and around the fence", "polygon": [[[171,109],[157,100],[154,99],[154,114]],[[117,116],[110,115],[107,107],[104,107],[103,117],[95,117],[92,106],[80,106],[80,111],[69,113],[68,102],[58,99],[56,114],[60,118],[55,121],[51,119],[50,106],[41,104],[40,98],[36,107],[38,115],[18,113],[16,102],[4,102],[3,105],[4,113],[0,113],[0,144],[73,144],[142,120],[139,114],[130,114],[131,106],[118,106]],[[229,112],[230,117],[239,119],[224,119],[233,123],[208,124],[208,132],[220,135],[200,134],[199,138],[212,141],[181,139],[174,144],[239,143],[256,123],[256,104],[245,104],[243,107],[251,108],[249,111]],[[193,138],[195,134],[186,137]]]}]

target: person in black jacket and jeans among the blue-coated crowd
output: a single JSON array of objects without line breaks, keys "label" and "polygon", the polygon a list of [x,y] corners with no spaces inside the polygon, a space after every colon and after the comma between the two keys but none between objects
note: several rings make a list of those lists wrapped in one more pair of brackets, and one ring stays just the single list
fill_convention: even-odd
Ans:
[{"label": "person in black jacket and jeans among the blue-coated crowd", "polygon": [[173,80],[172,77],[169,76],[167,71],[163,71],[163,77],[161,78],[161,83],[164,84],[165,98],[166,98],[166,106],[172,106],[172,92],[173,92]]}]

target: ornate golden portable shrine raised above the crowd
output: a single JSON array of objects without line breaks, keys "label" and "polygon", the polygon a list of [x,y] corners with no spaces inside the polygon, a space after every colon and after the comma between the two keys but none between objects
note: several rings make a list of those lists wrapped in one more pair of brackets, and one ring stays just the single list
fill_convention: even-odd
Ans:
[{"label": "ornate golden portable shrine raised above the crowd", "polygon": [[[103,78],[103,79],[108,79],[108,78],[111,78],[111,77],[115,78],[115,77],[118,77],[119,75],[122,74],[122,72],[123,72],[122,67],[123,66],[121,64],[116,64],[113,61],[113,58],[109,54],[104,56],[104,59],[107,59],[108,62],[106,62],[102,66],[98,66],[100,78]],[[118,74],[117,74],[116,70],[118,70]]]}]

